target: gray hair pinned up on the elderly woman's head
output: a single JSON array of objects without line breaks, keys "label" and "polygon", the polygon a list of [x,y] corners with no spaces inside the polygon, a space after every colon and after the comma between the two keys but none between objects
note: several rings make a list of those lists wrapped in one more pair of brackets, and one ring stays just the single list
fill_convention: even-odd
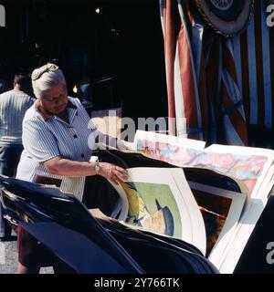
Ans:
[{"label": "gray hair pinned up on the elderly woman's head", "polygon": [[55,64],[48,63],[35,69],[32,74],[32,87],[37,99],[42,97],[43,91],[58,84],[66,86],[66,79],[63,72]]}]

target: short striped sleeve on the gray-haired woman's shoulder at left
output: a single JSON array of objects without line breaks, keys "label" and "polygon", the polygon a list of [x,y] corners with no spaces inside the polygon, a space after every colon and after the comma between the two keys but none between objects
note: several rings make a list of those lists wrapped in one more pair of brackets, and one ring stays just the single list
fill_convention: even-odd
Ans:
[{"label": "short striped sleeve on the gray-haired woman's shoulder at left", "polygon": [[58,141],[42,120],[24,120],[23,146],[36,162],[46,162],[60,157]]}]

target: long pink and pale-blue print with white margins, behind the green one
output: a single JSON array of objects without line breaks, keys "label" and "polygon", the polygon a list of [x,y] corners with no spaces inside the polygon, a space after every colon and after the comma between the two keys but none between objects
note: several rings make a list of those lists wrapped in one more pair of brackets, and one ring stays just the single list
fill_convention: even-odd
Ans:
[{"label": "long pink and pale-blue print with white margins, behind the green one", "polygon": [[175,141],[156,133],[137,131],[134,145],[137,151],[150,158],[168,162],[180,167],[207,168],[243,184],[247,193],[258,192],[270,163],[273,151],[248,147],[212,145],[202,149],[202,145],[191,140]]}]

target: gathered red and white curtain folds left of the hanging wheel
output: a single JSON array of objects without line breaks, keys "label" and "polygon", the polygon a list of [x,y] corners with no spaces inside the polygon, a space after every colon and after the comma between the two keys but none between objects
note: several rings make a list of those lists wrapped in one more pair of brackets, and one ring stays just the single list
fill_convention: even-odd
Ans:
[{"label": "gathered red and white curtain folds left of the hanging wheel", "polygon": [[[205,67],[201,62],[204,28],[195,22],[193,16],[185,14],[188,1],[184,1],[185,6],[181,0],[161,0],[160,3],[169,117],[176,118],[176,128],[170,128],[170,133],[174,134],[176,130],[177,136],[204,140],[207,123],[203,118],[206,119],[207,102],[205,99],[201,102],[199,95],[200,90],[206,91]],[[173,15],[170,15],[171,12]],[[195,46],[191,42],[195,42]]]}]

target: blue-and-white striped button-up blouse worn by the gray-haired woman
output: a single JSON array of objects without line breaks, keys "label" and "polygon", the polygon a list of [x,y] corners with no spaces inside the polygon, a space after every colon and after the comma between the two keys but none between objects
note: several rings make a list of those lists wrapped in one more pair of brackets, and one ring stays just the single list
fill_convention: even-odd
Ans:
[{"label": "blue-and-white striped button-up blouse worn by the gray-haired woman", "polygon": [[68,97],[68,120],[69,123],[55,115],[44,120],[35,105],[26,111],[23,121],[24,151],[16,178],[33,182],[35,175],[40,175],[61,180],[60,189],[66,193],[73,193],[81,200],[85,177],[69,178],[54,175],[47,172],[42,163],[55,157],[78,162],[90,161],[91,150],[88,140],[94,129],[88,128],[90,117],[79,99]]}]

